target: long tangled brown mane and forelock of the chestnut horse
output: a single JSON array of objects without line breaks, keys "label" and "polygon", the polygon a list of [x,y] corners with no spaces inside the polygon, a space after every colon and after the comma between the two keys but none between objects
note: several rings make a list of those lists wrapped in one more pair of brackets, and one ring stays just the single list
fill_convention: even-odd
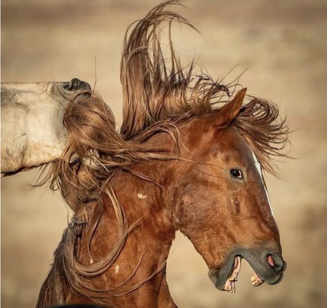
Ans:
[{"label": "long tangled brown mane and forelock of the chestnut horse", "polygon": [[[112,111],[95,92],[79,93],[66,108],[63,124],[68,131],[68,144],[59,160],[52,162],[50,168],[44,171],[41,184],[49,181],[52,189],[59,189],[76,215],[55,253],[52,271],[43,284],[38,307],[56,303],[54,298],[58,298],[58,286],[59,289],[68,286],[79,296],[108,304],[110,298],[133,291],[152,277],[130,289],[124,289],[123,285],[111,290],[92,287],[92,278],[100,276],[115,262],[126,237],[135,227],[127,225],[123,207],[110,186],[110,179],[119,169],[151,181],[130,166],[146,160],[175,160],[180,157],[164,147],[148,148],[143,142],[164,132],[179,146],[182,142],[179,123],[219,109],[239,88],[237,83],[222,85],[206,74],[195,75],[195,61],[186,67],[181,66],[172,46],[171,24],[178,21],[194,27],[184,17],[165,10],[169,4],[180,3],[175,0],[161,3],[146,17],[132,23],[126,32],[121,59],[123,124],[120,133],[116,130]],[[164,22],[168,23],[170,61],[165,61],[161,50]],[[272,157],[285,156],[281,152],[288,142],[285,119],[279,119],[275,104],[255,97],[248,99],[249,102],[244,104],[231,125],[237,127],[263,168],[276,174]],[[110,200],[119,222],[117,243],[101,260],[82,264],[77,256],[79,238],[86,238],[88,254],[92,258],[90,242],[103,211],[103,195]],[[55,291],[50,294],[50,289]]]}]

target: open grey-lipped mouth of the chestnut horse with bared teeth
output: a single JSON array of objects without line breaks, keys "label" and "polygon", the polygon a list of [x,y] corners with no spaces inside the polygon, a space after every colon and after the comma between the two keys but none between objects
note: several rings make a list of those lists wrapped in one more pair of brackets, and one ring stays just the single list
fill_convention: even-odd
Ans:
[{"label": "open grey-lipped mouth of the chestnut horse with bared teeth", "polygon": [[282,267],[278,271],[274,269],[269,262],[262,262],[260,258],[256,258],[252,252],[242,251],[243,254],[233,253],[221,267],[210,269],[208,276],[214,283],[215,287],[221,291],[228,291],[235,293],[237,276],[241,269],[241,260],[243,258],[248,261],[252,269],[255,271],[252,278],[250,278],[254,287],[259,287],[264,282],[268,285],[275,285],[283,278],[283,272],[286,269],[286,262],[282,261]]}]

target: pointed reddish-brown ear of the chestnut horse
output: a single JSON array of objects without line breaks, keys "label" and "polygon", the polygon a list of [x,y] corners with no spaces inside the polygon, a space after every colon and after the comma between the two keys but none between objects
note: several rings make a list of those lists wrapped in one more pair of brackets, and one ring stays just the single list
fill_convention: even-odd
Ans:
[{"label": "pointed reddish-brown ear of the chestnut horse", "polygon": [[219,109],[218,125],[230,123],[235,119],[235,117],[237,117],[245,95],[246,88],[243,88],[236,93],[235,97],[233,97],[230,102]]}]

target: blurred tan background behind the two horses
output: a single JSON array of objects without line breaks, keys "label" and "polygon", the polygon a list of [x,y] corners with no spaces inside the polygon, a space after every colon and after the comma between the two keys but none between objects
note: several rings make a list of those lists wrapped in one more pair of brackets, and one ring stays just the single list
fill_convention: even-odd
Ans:
[{"label": "blurred tan background behind the two horses", "polygon": [[[119,61],[126,27],[159,1],[2,0],[1,81],[97,79],[121,123]],[[235,295],[217,291],[204,261],[182,235],[168,259],[179,307],[327,307],[327,2],[190,0],[181,12],[201,35],[176,28],[185,62],[197,57],[213,77],[246,68],[248,93],[271,99],[288,116],[290,155],[282,179],[266,176],[288,269],[276,286],[252,287],[243,263]],[[95,61],[96,59],[96,61]],[[96,62],[96,65],[95,65]],[[37,124],[36,124],[37,125]],[[1,180],[1,304],[33,307],[67,225],[57,193],[32,189],[37,170]]]}]

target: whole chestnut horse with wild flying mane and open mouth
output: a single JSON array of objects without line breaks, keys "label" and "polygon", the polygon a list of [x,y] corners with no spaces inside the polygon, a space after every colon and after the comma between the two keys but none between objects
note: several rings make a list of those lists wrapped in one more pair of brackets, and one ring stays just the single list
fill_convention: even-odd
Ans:
[{"label": "whole chestnut horse with wild flying mane and open mouth", "polygon": [[242,258],[255,271],[255,286],[283,277],[262,171],[275,173],[271,159],[284,155],[285,120],[275,104],[246,97],[245,88],[235,94],[238,85],[194,75],[194,62],[181,68],[171,39],[170,64],[164,61],[161,23],[168,21],[169,30],[174,20],[191,26],[165,10],[176,2],[128,28],[120,133],[97,93],[66,108],[69,142],[45,181],[76,213],[37,307],[177,307],[166,282],[177,230],[204,258],[219,290],[235,292]]}]

